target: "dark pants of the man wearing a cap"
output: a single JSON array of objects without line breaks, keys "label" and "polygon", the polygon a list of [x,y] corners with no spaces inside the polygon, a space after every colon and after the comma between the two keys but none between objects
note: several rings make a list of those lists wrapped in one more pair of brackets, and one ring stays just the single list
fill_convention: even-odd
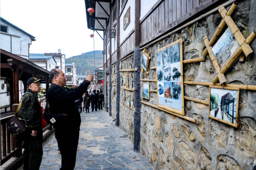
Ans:
[{"label": "dark pants of the man wearing a cap", "polygon": [[43,156],[42,139],[29,136],[23,146],[23,170],[39,170]]}]

